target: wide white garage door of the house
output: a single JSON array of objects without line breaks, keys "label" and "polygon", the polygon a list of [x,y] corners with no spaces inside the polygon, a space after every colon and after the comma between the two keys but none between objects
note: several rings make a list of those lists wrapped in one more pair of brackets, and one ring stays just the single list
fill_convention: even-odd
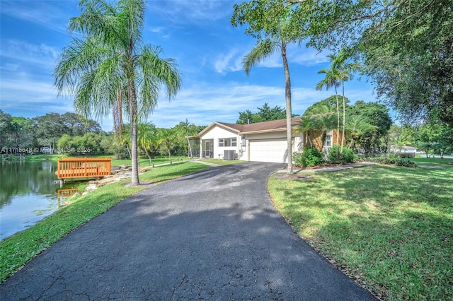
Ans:
[{"label": "wide white garage door of the house", "polygon": [[256,162],[287,163],[286,139],[251,140],[250,160]]}]

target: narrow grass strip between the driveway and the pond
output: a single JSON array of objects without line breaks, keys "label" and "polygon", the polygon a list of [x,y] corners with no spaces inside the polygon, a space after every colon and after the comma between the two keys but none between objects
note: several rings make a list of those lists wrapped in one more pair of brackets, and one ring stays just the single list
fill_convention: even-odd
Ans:
[{"label": "narrow grass strip between the driveway and the pond", "polygon": [[[163,182],[207,168],[197,163],[181,163],[156,167],[140,176],[141,182]],[[37,254],[60,240],[64,235],[79,228],[88,220],[99,216],[127,196],[136,194],[146,187],[125,187],[125,180],[109,184],[81,196],[71,205],[64,207],[16,235],[0,242],[0,283]]]}]

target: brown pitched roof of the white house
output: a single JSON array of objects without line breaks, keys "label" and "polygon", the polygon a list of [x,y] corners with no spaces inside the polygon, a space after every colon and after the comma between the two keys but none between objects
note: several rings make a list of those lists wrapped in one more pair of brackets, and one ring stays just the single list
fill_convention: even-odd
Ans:
[{"label": "brown pitched roof of the white house", "polygon": [[[292,125],[297,125],[301,117],[292,118]],[[226,122],[213,122],[206,129],[200,131],[197,137],[203,136],[207,131],[210,131],[214,126],[220,126],[229,131],[234,131],[237,134],[257,134],[269,131],[286,131],[286,119],[272,120],[270,122],[257,122],[254,124],[229,124]]]}]

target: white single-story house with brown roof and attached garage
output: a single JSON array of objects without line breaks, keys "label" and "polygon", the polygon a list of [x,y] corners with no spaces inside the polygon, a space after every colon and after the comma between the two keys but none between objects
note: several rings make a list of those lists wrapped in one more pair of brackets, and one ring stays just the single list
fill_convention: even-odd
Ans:
[{"label": "white single-story house with brown roof and attached garage", "polygon": [[[300,117],[292,118],[292,152],[302,152],[304,139],[294,134]],[[193,157],[287,163],[286,119],[254,124],[213,122],[196,136],[189,136]],[[313,136],[313,135],[312,135]],[[331,146],[333,131],[328,131],[325,146]],[[317,139],[321,141],[320,135]],[[312,142],[316,144],[316,137]]]}]

